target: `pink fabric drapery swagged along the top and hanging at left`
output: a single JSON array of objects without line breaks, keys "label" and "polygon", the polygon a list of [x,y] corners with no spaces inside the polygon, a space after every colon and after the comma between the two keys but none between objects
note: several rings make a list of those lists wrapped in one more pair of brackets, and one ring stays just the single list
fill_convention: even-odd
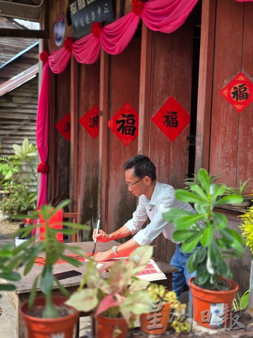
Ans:
[{"label": "pink fabric drapery swagged along the top and hanging at left", "polygon": [[[36,127],[37,146],[43,163],[46,163],[48,155],[49,67],[54,73],[63,72],[69,62],[71,52],[79,63],[95,63],[99,58],[101,46],[109,54],[121,53],[132,39],[141,19],[151,30],[170,33],[184,24],[197,1],[148,0],[143,3],[140,0],[133,0],[132,12],[102,27],[99,34],[91,33],[73,43],[67,38],[69,40],[67,44],[64,43],[63,48],[53,52],[50,56],[43,55],[44,66]],[[39,209],[42,204],[46,203],[47,174],[42,173],[37,208]]]}]

